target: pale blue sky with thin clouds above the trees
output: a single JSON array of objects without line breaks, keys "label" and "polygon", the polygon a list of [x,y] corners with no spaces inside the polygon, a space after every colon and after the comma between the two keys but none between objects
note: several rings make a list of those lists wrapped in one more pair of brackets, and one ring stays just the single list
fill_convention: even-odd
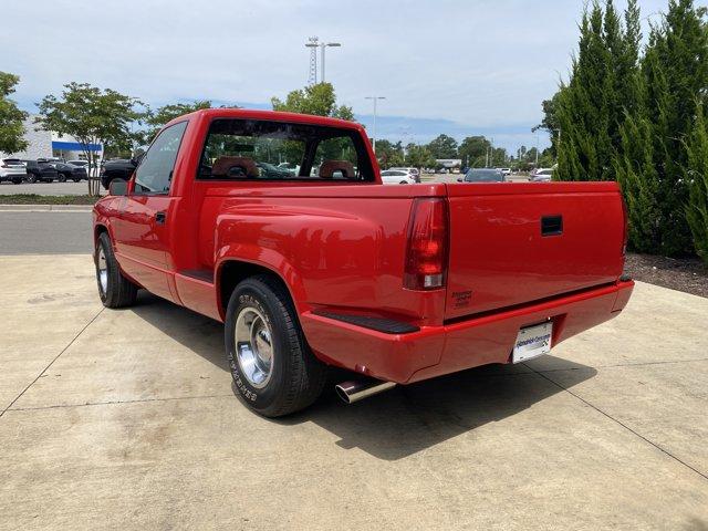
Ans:
[{"label": "pale blue sky with thin clouds above the trees", "polygon": [[[620,8],[624,1],[617,1]],[[658,20],[666,0],[639,0]],[[150,106],[212,100],[270,108],[308,82],[304,43],[317,35],[340,104],[376,136],[494,138],[516,153],[548,146],[531,128],[566,79],[583,0],[3,0],[0,71],[35,111],[71,81]],[[8,23],[10,21],[15,21]],[[28,24],[18,21],[31,21]]]}]

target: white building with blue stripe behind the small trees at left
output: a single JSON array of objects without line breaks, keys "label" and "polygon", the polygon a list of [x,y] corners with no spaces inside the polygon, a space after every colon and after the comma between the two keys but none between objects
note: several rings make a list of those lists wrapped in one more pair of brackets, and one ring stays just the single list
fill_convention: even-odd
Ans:
[{"label": "white building with blue stripe behind the small trees at left", "polygon": [[[24,139],[27,149],[18,153],[0,153],[0,158],[21,158],[34,160],[38,158],[63,158],[64,160],[83,160],[86,158],[82,144],[70,135],[60,135],[52,131],[42,129],[34,123],[35,115],[30,115],[24,121]],[[98,158],[103,157],[101,144],[90,144],[88,150],[94,152]]]}]

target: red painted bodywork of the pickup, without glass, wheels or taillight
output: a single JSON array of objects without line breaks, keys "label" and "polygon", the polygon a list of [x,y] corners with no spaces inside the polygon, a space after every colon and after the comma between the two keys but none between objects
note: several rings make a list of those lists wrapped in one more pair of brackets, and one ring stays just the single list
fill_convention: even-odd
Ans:
[{"label": "red painted bodywork of the pickup, without glass, wheels or taillight", "polygon": [[[553,344],[615,316],[633,282],[624,264],[624,212],[614,183],[430,184],[197,180],[215,118],[327,125],[316,116],[242,110],[188,119],[169,194],[106,197],[94,209],[123,272],[150,292],[223,320],[223,266],[282,279],[313,352],[333,365],[410,383],[509,363],[520,327],[554,321]],[[404,288],[415,199],[441,198],[448,219],[447,287]],[[166,212],[158,225],[155,214]],[[541,236],[543,216],[563,233]],[[231,270],[232,271],[232,270]],[[385,334],[320,315],[379,316],[419,327]]]}]

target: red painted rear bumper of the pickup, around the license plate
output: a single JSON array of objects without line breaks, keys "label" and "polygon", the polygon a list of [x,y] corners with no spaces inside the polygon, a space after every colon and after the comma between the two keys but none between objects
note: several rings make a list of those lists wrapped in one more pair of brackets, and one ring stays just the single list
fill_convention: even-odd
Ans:
[{"label": "red painted rear bumper of the pickup, around the license plate", "polygon": [[633,281],[555,298],[523,308],[385,334],[305,312],[302,327],[314,353],[326,363],[379,379],[409,384],[490,363],[510,363],[519,329],[553,321],[555,346],[616,316]]}]

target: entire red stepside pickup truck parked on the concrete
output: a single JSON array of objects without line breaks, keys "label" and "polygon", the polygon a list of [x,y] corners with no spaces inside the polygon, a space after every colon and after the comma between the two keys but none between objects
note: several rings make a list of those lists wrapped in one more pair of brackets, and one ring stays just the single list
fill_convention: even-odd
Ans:
[{"label": "entire red stepside pickup truck parked on the concrete", "polygon": [[614,183],[382,186],[365,131],[290,113],[170,122],[94,208],[101,300],[139,288],[225,323],[244,402],[354,402],[520,363],[627,303]]}]

